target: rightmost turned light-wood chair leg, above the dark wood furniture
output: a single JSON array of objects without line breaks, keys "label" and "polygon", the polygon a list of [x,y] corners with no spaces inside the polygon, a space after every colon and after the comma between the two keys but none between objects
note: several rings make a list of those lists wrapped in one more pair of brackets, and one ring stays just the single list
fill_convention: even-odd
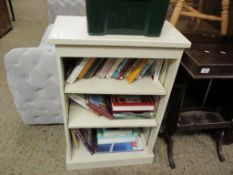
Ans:
[{"label": "rightmost turned light-wood chair leg, above the dark wood furniture", "polygon": [[229,0],[222,0],[222,23],[221,23],[221,34],[226,35],[228,31],[228,20],[229,20]]}]

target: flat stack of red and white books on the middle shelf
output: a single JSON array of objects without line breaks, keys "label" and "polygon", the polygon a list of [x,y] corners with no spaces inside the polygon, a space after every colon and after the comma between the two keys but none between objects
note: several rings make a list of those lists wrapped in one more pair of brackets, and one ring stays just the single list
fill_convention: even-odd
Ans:
[{"label": "flat stack of red and white books on the middle shelf", "polygon": [[150,95],[111,96],[114,119],[151,118],[155,115],[158,97]]}]

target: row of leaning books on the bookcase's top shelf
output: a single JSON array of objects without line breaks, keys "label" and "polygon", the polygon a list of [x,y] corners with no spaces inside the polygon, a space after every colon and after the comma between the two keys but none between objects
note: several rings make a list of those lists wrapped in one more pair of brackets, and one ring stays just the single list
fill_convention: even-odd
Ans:
[{"label": "row of leaning books on the bookcase's top shelf", "polygon": [[126,79],[129,83],[143,76],[159,76],[162,59],[132,59],[132,58],[80,58],[77,59],[70,72],[67,83],[78,79],[88,79],[93,76],[107,79]]}]

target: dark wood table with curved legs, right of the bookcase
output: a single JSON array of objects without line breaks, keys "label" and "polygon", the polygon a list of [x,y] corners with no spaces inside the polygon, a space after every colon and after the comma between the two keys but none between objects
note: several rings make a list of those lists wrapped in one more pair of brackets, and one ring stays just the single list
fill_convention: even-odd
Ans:
[{"label": "dark wood table with curved legs, right of the bookcase", "polygon": [[[217,136],[217,153],[220,160],[224,161],[222,152],[224,130],[227,129],[230,133],[233,124],[231,100],[216,99],[219,105],[207,104],[213,81],[233,79],[232,38],[211,34],[186,34],[186,36],[191,40],[192,47],[186,50],[182,57],[182,66],[167,108],[167,127],[164,131],[171,168],[175,168],[172,136],[177,131],[214,131]],[[202,81],[199,83],[200,89],[191,84],[191,81],[197,80]]]}]

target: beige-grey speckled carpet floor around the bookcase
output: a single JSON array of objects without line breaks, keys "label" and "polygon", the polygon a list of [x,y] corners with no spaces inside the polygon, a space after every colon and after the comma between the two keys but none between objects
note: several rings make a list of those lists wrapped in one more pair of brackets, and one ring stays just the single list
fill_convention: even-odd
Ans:
[{"label": "beige-grey speckled carpet floor around the bookcase", "polygon": [[12,2],[16,15],[14,30],[0,39],[0,175],[233,174],[233,145],[223,146],[226,161],[221,163],[215,142],[201,133],[175,136],[175,170],[169,168],[166,145],[159,138],[153,164],[67,172],[63,126],[22,123],[6,83],[3,65],[3,57],[10,49],[38,45],[47,26],[46,0]]}]

